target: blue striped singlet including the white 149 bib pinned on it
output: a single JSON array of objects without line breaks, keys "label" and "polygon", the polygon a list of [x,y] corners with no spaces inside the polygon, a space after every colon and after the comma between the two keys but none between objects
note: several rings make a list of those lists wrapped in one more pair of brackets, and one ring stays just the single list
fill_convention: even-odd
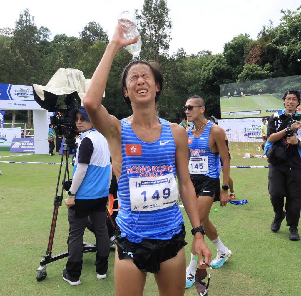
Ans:
[{"label": "blue striped singlet including the white 149 bib pinned on it", "polygon": [[169,123],[162,125],[155,142],[144,142],[121,120],[122,169],[118,184],[116,223],[121,237],[169,240],[184,224],[175,180],[175,142]]}]

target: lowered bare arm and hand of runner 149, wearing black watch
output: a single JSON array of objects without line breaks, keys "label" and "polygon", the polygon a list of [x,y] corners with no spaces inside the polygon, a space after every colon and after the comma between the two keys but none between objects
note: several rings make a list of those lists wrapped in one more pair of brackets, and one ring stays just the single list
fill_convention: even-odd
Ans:
[{"label": "lowered bare arm and hand of runner 149, wearing black watch", "polygon": [[[195,193],[194,186],[191,182],[189,171],[188,171],[188,161],[185,155],[188,155],[188,140],[186,131],[182,129],[178,124],[170,124],[172,135],[176,145],[175,151],[175,166],[179,184],[179,193],[188,215],[192,228],[197,228],[204,221],[200,221],[198,207],[197,207],[197,196]],[[197,232],[195,234],[195,250],[199,256],[199,266],[202,269],[206,268],[203,265],[202,255],[205,256],[205,262],[210,265],[211,255],[208,246],[205,243],[203,234]]]}]

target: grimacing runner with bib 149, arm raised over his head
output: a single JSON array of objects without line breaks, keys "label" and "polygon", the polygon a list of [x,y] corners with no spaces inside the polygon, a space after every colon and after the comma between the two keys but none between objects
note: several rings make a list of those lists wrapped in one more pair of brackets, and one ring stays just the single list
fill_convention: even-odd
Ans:
[{"label": "grimacing runner with bib 149, arm raised over his head", "polygon": [[[101,104],[116,53],[137,42],[119,25],[89,84],[84,105],[93,126],[107,139],[118,183],[115,293],[142,296],[147,272],[154,273],[160,295],[185,293],[185,228],[177,205],[177,183],[191,221],[195,248],[208,264],[195,191],[188,173],[185,129],[156,116],[163,76],[155,62],[134,60],[125,68],[122,91],[133,114],[119,120]],[[207,266],[200,259],[200,268]]]}]

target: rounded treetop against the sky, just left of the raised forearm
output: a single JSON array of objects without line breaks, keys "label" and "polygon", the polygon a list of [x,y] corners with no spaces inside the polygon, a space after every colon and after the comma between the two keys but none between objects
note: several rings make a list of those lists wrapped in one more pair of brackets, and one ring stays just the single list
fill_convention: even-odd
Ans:
[{"label": "rounded treetop against the sky, just left of the raised forearm", "polygon": [[109,36],[107,32],[104,31],[104,28],[95,21],[89,22],[85,25],[83,30],[79,32],[79,38],[84,43],[85,51],[88,46],[91,46],[96,41],[103,41],[106,44],[109,43]]}]

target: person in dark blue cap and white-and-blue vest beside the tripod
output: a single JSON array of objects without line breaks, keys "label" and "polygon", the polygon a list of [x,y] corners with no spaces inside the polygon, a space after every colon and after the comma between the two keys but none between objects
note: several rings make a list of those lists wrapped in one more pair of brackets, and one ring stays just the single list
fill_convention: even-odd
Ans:
[{"label": "person in dark blue cap and white-and-blue vest beside the tripod", "polygon": [[72,185],[65,199],[69,221],[69,257],[63,279],[70,285],[79,285],[82,240],[88,217],[95,230],[97,278],[107,277],[110,243],[106,207],[109,196],[110,152],[106,139],[93,128],[83,106],[72,109],[70,119],[82,134],[75,157]]}]

